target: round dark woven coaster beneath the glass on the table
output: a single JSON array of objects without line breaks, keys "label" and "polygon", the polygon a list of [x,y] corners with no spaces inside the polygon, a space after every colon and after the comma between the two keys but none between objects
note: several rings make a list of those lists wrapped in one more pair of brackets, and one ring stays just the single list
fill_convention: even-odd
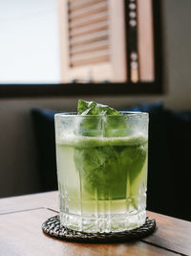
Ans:
[{"label": "round dark woven coaster beneath the glass on the table", "polygon": [[147,217],[143,225],[136,229],[117,233],[85,233],[74,231],[60,225],[59,216],[56,215],[42,224],[44,233],[58,239],[81,243],[118,243],[130,240],[139,240],[154,232],[156,221]]}]

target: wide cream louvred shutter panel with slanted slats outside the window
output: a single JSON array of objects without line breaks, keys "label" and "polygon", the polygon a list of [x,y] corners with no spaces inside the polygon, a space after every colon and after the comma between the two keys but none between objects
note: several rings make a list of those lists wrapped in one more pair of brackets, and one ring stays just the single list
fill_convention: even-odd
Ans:
[{"label": "wide cream louvred shutter panel with slanted slats outside the window", "polygon": [[62,81],[127,81],[123,0],[59,0]]}]

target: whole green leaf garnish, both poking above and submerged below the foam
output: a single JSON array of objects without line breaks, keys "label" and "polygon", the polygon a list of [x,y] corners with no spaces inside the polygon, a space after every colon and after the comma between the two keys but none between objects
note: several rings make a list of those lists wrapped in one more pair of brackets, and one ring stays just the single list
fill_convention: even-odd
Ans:
[{"label": "whole green leaf garnish, both poking above and submerged below the foam", "polygon": [[[79,100],[77,111],[82,116],[78,128],[80,135],[117,139],[131,134],[125,116],[108,105]],[[102,147],[75,147],[74,162],[80,176],[82,197],[103,200],[138,198],[139,175],[147,147],[141,143],[131,146],[109,146],[109,143]],[[138,205],[136,200],[134,205]]]}]

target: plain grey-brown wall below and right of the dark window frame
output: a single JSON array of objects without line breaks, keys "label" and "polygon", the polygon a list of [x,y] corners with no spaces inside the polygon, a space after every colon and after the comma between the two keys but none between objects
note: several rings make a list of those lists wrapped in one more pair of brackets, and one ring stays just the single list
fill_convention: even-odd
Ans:
[{"label": "plain grey-brown wall below and right of the dark window frame", "polygon": [[[191,109],[191,1],[162,0],[162,3],[165,95],[85,97],[86,100],[114,107],[161,100],[174,109]],[[39,188],[30,116],[32,107],[73,110],[77,99],[0,100],[0,197],[32,193]]]}]

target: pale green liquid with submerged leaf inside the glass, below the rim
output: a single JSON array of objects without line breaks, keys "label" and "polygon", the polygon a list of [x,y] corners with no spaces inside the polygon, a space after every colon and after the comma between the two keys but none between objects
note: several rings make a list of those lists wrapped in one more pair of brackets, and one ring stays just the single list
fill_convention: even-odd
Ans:
[{"label": "pale green liquid with submerged leaf inside the glass, below the rim", "polygon": [[143,136],[57,140],[61,212],[104,216],[144,210],[147,148]]}]

